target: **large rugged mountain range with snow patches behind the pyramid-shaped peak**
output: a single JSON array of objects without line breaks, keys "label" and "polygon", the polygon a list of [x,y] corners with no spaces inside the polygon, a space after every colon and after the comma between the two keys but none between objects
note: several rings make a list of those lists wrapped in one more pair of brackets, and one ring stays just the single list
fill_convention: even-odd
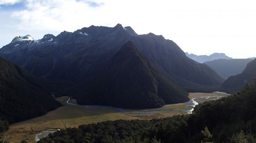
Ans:
[{"label": "large rugged mountain range with snow patches behind the pyramid-shaped peak", "polygon": [[173,41],[153,33],[138,35],[121,24],[113,28],[90,26],[73,33],[64,31],[56,37],[48,34],[40,40],[25,37],[16,37],[18,40],[1,48],[0,56],[41,78],[83,83],[101,71],[131,40],[165,78],[186,91],[211,91],[209,86],[224,82],[210,67],[185,56]]}]

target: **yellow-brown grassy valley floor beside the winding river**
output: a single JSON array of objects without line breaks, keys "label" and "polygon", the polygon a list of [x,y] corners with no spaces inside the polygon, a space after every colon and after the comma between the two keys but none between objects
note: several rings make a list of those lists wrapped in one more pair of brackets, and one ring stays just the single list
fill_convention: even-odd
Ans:
[{"label": "yellow-brown grassy valley floor beside the winding river", "polygon": [[[222,93],[190,93],[189,99],[208,97],[208,96],[226,96]],[[81,124],[98,123],[107,120],[132,120],[132,119],[155,119],[165,118],[179,114],[187,114],[186,111],[191,110],[192,106],[187,103],[169,104],[161,108],[145,109],[145,110],[115,110],[115,108],[92,108],[84,107],[76,104],[75,99],[72,99],[67,104],[68,96],[57,98],[63,103],[62,107],[54,111],[48,112],[44,116],[39,116],[30,120],[12,124],[6,132],[6,137],[10,143],[17,143],[25,139],[28,143],[34,143],[35,137],[42,131],[56,131],[58,129],[78,127]],[[204,98],[198,100],[198,103],[214,100],[216,98]],[[120,109],[120,108],[119,108]],[[174,111],[173,111],[174,110]],[[180,111],[179,111],[180,110]],[[184,112],[185,111],[185,112]]]}]

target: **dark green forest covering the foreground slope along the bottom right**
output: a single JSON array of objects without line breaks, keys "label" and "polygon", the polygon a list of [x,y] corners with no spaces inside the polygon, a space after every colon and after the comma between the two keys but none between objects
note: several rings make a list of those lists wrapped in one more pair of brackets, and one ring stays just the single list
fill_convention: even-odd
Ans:
[{"label": "dark green forest covering the foreground slope along the bottom right", "polygon": [[84,124],[38,143],[256,143],[255,95],[254,79],[240,92],[200,104],[190,115]]}]

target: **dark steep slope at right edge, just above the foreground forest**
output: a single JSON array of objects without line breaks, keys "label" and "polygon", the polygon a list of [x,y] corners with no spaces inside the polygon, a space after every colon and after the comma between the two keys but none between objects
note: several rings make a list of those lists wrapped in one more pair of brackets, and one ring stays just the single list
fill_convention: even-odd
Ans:
[{"label": "dark steep slope at right edge, just above the foreground forest", "polygon": [[230,76],[222,87],[241,89],[245,83],[251,83],[254,78],[256,78],[256,59],[249,62],[241,74]]}]

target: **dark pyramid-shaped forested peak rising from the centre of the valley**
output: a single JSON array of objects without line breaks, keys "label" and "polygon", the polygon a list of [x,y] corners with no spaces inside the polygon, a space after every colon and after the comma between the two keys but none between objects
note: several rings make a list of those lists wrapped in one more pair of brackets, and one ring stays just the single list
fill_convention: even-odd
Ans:
[{"label": "dark pyramid-shaped forested peak rising from the centre of the valley", "polygon": [[128,41],[110,61],[80,89],[79,104],[121,108],[157,108],[188,101],[181,90],[151,65]]}]

